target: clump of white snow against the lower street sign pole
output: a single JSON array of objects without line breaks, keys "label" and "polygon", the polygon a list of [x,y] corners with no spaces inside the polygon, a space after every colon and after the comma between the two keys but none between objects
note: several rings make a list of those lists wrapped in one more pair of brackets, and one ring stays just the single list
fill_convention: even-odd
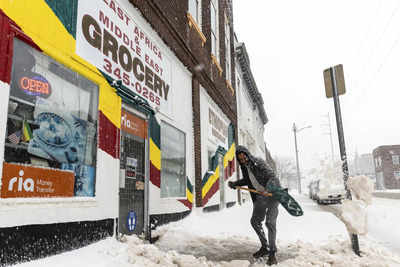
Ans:
[{"label": "clump of white snow against the lower street sign pole", "polygon": [[367,176],[349,177],[347,186],[352,200],[343,200],[339,218],[351,234],[365,235],[368,232],[367,206],[372,202],[374,185]]}]

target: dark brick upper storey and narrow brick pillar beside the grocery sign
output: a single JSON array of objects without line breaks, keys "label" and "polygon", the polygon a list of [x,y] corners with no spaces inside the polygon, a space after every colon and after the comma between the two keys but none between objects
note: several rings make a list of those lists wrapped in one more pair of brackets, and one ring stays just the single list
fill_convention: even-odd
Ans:
[{"label": "dark brick upper storey and narrow brick pillar beside the grocery sign", "polygon": [[[236,126],[236,97],[235,97],[235,64],[234,43],[231,38],[231,70],[230,77],[226,77],[225,64],[225,27],[229,21],[229,35],[233,37],[232,3],[229,0],[219,0],[219,59],[213,60],[211,52],[211,12],[210,0],[201,3],[201,25],[190,17],[190,1],[135,1],[129,0],[138,8],[146,20],[154,27],[165,43],[175,52],[177,57],[193,74],[192,105],[194,123],[194,146],[196,166],[196,205],[201,206],[201,138],[200,128],[204,123],[200,119],[200,85],[207,94],[217,103],[233,126]],[[205,39],[202,39],[205,38]],[[235,127],[236,129],[236,127]],[[235,135],[236,136],[236,135]]]}]

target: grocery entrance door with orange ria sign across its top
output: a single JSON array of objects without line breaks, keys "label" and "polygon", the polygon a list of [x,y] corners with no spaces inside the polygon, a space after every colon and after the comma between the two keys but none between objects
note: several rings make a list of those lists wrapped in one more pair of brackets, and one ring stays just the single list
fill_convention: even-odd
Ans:
[{"label": "grocery entrance door with orange ria sign across its top", "polygon": [[141,235],[146,214],[147,124],[125,110],[121,115],[119,233]]}]

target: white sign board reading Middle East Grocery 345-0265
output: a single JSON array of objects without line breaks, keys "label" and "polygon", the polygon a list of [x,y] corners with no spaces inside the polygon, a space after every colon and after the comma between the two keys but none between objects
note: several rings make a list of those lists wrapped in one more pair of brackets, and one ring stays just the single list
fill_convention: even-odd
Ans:
[{"label": "white sign board reading Middle East Grocery 345-0265", "polygon": [[170,59],[118,2],[79,1],[76,28],[77,55],[170,113]]}]

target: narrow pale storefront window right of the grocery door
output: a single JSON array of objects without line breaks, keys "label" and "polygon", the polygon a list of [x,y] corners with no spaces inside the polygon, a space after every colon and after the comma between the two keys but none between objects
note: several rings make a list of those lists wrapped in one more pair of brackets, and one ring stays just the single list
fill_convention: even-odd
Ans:
[{"label": "narrow pale storefront window right of the grocery door", "polygon": [[161,123],[161,197],[186,197],[185,134]]}]

